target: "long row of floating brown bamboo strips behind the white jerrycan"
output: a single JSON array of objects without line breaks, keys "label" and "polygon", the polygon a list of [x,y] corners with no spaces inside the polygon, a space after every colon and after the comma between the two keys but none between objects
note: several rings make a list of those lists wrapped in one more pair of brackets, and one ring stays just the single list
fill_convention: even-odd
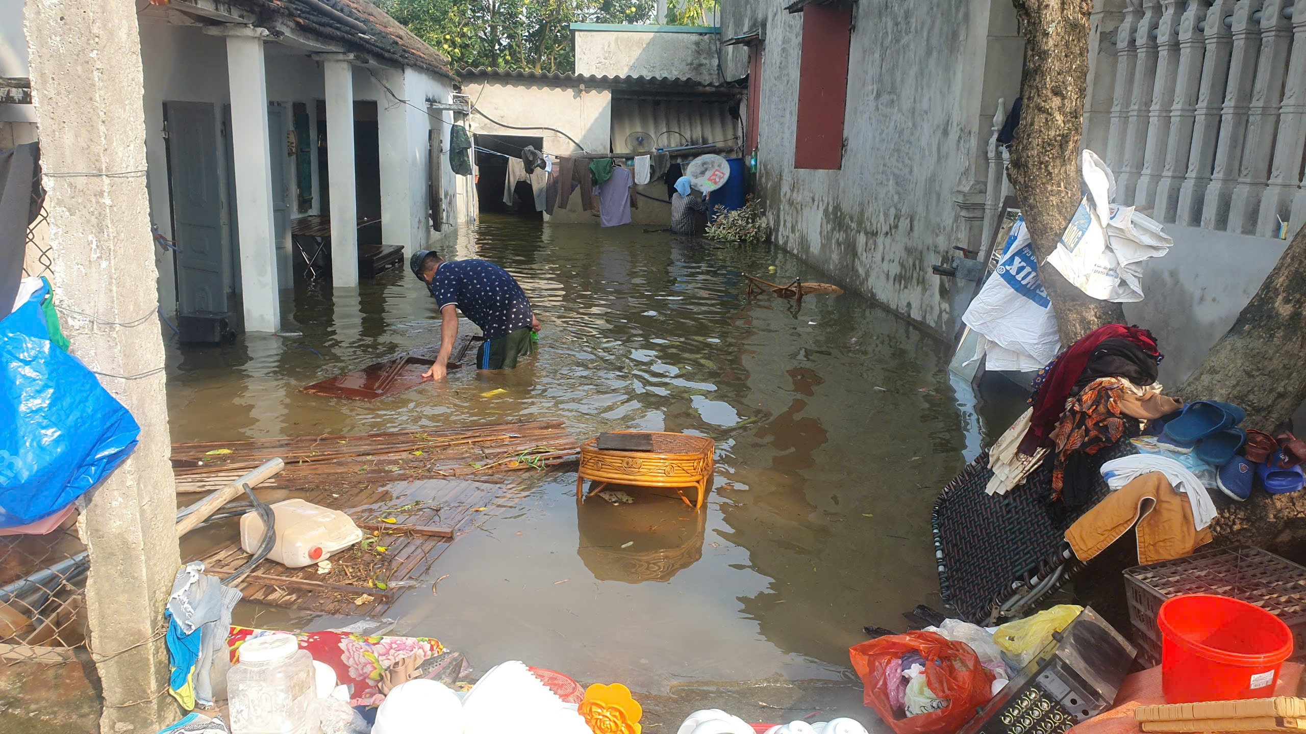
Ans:
[{"label": "long row of floating brown bamboo strips behind the white jerrycan", "polygon": [[411,432],[323,435],[172,444],[178,492],[209,492],[281,457],[265,488],[492,475],[576,461],[580,445],[562,421]]}]

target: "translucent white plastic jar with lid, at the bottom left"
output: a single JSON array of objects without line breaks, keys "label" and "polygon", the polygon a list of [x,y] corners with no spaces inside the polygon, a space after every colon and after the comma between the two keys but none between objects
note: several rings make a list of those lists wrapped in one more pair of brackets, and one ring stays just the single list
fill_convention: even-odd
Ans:
[{"label": "translucent white plastic jar with lid, at the bottom left", "polygon": [[312,656],[294,635],[247,641],[227,674],[227,704],[232,734],[319,734]]}]

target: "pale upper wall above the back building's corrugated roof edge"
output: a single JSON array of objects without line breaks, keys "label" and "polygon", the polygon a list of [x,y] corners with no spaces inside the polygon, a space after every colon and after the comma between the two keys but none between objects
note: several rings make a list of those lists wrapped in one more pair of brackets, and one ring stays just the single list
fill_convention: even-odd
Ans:
[{"label": "pale upper wall above the back building's corrugated roof edge", "polygon": [[[575,24],[576,73],[718,84],[714,27]],[[584,30],[584,29],[601,30]]]}]

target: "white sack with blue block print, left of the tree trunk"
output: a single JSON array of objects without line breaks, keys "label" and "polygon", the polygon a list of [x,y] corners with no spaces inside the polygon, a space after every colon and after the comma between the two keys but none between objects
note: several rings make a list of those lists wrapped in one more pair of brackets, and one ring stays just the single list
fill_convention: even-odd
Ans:
[{"label": "white sack with blue block print, left of the tree trunk", "polygon": [[1060,351],[1057,317],[1038,279],[1038,261],[1024,218],[1003,244],[993,276],[961,320],[980,334],[976,355],[989,370],[1034,372]]}]

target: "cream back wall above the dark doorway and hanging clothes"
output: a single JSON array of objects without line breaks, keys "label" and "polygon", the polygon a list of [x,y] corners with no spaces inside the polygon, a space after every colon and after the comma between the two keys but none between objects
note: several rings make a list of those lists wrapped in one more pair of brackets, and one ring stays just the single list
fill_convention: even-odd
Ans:
[{"label": "cream back wall above the dark doorway and hanging clothes", "polygon": [[[528,80],[470,80],[464,91],[477,101],[477,108],[508,125],[542,125],[558,128],[576,138],[585,150],[611,150],[613,93],[606,89],[551,86]],[[541,114],[547,112],[547,119]],[[576,153],[576,145],[552,131],[515,131],[473,115],[469,120],[474,135],[539,135],[545,152],[554,155]],[[567,209],[554,212],[554,222],[592,222],[581,210],[580,197],[572,196]]]}]

